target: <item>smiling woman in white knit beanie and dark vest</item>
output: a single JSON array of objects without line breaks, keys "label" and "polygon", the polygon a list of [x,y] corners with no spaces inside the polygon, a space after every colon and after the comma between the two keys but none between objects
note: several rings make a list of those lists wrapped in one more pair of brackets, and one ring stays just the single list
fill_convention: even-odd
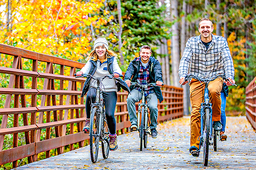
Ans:
[{"label": "smiling woman in white knit beanie and dark vest", "polygon": [[[117,63],[117,54],[114,51],[108,50],[109,44],[105,38],[97,38],[94,42],[94,50],[90,53],[86,60],[86,65],[76,73],[76,76],[82,74],[90,74],[96,77],[102,77],[109,74],[114,74],[117,78],[122,74],[122,70]],[[117,104],[117,91],[122,89],[129,91],[128,86],[122,79],[118,79],[116,84],[115,79],[103,79],[101,81],[101,90],[103,91],[103,98],[105,101],[105,113],[107,117],[107,125],[110,132],[109,149],[116,150],[117,145],[117,134],[116,134],[116,120],[115,120],[115,108]],[[86,95],[86,121],[83,131],[89,132],[90,130],[90,110],[91,102],[94,103],[96,100],[96,88],[97,83],[93,81],[91,77],[88,77],[84,83],[82,96]]]}]

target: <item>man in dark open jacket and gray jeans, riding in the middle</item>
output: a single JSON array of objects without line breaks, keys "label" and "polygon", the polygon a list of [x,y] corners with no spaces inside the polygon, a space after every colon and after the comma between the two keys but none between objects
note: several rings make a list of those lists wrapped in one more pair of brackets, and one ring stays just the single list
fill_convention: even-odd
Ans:
[{"label": "man in dark open jacket and gray jeans, riding in the middle", "polygon": [[[130,127],[131,130],[137,130],[138,128],[138,118],[136,115],[135,103],[139,102],[143,95],[141,93],[141,89],[131,86],[131,82],[136,82],[142,85],[147,83],[156,83],[159,86],[162,85],[162,69],[160,62],[152,57],[151,54],[151,48],[148,45],[143,45],[139,51],[140,56],[130,62],[124,75],[124,81],[131,90],[131,93],[127,98],[127,109],[130,116],[130,122],[132,124]],[[150,111],[151,136],[153,138],[157,138],[157,99],[159,99],[159,102],[163,101],[160,87],[148,87],[148,89],[145,91],[145,96]]]}]

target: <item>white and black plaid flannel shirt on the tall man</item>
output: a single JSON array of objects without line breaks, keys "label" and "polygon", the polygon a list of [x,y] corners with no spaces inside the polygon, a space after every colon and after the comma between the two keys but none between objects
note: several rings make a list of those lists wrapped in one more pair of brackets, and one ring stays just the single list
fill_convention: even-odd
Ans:
[{"label": "white and black plaid flannel shirt on the tall man", "polygon": [[212,34],[212,42],[206,50],[201,36],[189,38],[180,60],[179,76],[187,76],[188,71],[203,79],[223,73],[234,79],[235,70],[226,39]]}]

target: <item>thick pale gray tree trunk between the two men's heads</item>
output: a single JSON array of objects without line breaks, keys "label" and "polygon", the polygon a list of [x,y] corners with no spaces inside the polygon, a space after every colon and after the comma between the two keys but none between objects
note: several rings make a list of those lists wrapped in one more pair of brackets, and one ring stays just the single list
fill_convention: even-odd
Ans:
[{"label": "thick pale gray tree trunk between the two men's heads", "polygon": [[[171,19],[178,18],[178,0],[171,0]],[[172,25],[172,77],[173,84],[176,87],[180,87],[180,77],[178,75],[179,63],[180,63],[180,45],[179,45],[179,30],[178,23]]]}]

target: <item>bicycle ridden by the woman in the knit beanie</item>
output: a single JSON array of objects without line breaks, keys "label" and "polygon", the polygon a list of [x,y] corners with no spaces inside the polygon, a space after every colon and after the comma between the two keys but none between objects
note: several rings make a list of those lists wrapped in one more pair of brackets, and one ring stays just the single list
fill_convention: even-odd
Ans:
[{"label": "bicycle ridden by the woman in the knit beanie", "polygon": [[[76,76],[76,74],[75,74]],[[122,77],[123,75],[120,75]],[[97,81],[97,90],[96,90],[96,100],[91,104],[90,111],[90,157],[92,163],[97,162],[98,152],[99,152],[99,142],[101,142],[101,151],[104,159],[107,159],[109,156],[109,128],[107,126],[107,118],[105,115],[105,107],[103,101],[103,95],[100,89],[100,82],[105,79],[113,79],[113,75],[106,75],[102,77],[94,77],[90,74],[82,74],[82,76],[77,77],[91,77]]]}]

